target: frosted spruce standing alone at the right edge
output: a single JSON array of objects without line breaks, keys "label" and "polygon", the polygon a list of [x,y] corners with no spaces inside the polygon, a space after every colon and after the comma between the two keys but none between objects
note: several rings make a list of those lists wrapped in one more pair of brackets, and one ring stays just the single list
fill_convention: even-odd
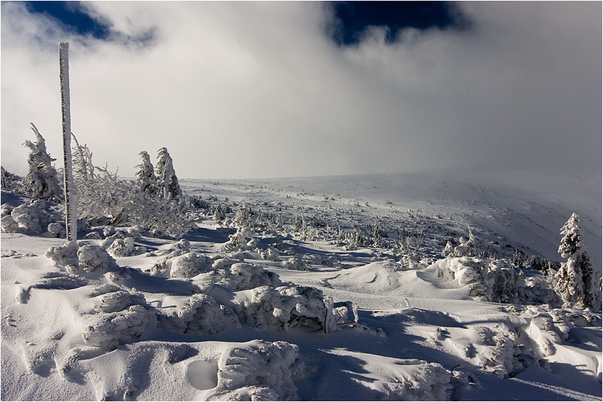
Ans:
[{"label": "frosted spruce standing alone at the right edge", "polygon": [[576,213],[561,228],[559,253],[568,261],[561,264],[555,274],[555,291],[563,299],[565,306],[573,308],[593,308],[601,310],[600,275],[594,272],[590,257],[582,250],[580,217]]}]

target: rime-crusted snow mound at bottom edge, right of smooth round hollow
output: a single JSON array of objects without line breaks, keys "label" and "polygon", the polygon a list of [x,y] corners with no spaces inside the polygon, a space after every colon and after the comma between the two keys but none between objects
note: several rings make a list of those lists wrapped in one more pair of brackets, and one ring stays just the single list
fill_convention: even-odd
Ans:
[{"label": "rime-crusted snow mound at bottom edge, right of smooth round hollow", "polygon": [[229,347],[218,360],[218,385],[208,401],[291,401],[299,399],[293,380],[302,374],[299,347],[253,340]]}]

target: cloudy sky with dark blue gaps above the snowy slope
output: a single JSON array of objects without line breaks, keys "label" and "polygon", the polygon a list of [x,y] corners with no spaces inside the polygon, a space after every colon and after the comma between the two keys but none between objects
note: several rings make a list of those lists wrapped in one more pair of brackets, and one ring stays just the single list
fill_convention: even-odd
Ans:
[{"label": "cloudy sky with dark blue gaps above the snowy slope", "polygon": [[602,3],[1,2],[1,164],[34,123],[132,177],[602,169]]}]

